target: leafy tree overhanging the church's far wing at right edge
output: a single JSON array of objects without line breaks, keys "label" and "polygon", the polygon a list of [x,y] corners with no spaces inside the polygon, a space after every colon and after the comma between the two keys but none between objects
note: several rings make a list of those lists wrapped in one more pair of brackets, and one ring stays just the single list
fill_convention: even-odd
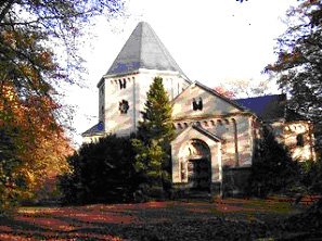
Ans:
[{"label": "leafy tree overhanging the church's far wing at right edge", "polygon": [[288,106],[315,124],[317,145],[322,147],[322,3],[301,0],[286,14],[288,28],[278,38],[278,61],[265,72],[276,78],[289,96]]}]

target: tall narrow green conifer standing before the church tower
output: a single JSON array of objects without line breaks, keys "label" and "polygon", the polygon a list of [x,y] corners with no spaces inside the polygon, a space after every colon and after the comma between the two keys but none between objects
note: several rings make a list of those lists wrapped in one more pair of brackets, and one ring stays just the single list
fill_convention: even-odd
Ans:
[{"label": "tall narrow green conifer standing before the church tower", "polygon": [[137,169],[143,172],[151,185],[162,183],[169,188],[170,140],[173,137],[172,104],[160,77],[154,78],[147,92],[143,122],[139,124],[138,139],[133,145],[138,150]]}]

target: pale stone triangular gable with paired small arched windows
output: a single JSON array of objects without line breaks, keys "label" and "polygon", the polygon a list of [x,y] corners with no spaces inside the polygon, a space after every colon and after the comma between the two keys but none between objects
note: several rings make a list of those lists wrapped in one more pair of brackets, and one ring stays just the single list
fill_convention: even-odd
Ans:
[{"label": "pale stone triangular gable with paired small arched windows", "polygon": [[[194,110],[194,101],[202,100],[202,110]],[[230,115],[244,109],[216,91],[195,83],[173,100],[172,117],[175,119]]]}]

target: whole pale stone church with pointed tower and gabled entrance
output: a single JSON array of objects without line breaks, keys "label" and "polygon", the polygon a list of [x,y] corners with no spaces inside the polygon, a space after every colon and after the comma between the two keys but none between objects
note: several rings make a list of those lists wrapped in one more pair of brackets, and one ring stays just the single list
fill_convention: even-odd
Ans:
[{"label": "whole pale stone church with pointed tower and gabled entrance", "polygon": [[192,83],[144,22],[138,24],[99,81],[99,124],[82,134],[83,141],[134,132],[142,119],[146,92],[157,76],[173,102],[175,187],[218,192],[223,168],[229,167],[234,172],[233,189],[242,190],[262,123],[269,123],[279,141],[291,147],[294,158],[314,158],[311,124],[287,110],[285,96],[230,100],[201,83]]}]

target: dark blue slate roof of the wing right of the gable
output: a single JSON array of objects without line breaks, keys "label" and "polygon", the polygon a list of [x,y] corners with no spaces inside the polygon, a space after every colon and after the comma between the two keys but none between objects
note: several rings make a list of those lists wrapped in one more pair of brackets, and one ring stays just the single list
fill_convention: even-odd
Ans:
[{"label": "dark blue slate roof of the wing right of the gable", "polygon": [[286,94],[270,94],[234,100],[240,105],[255,112],[262,120],[273,122],[278,119],[302,120],[304,116],[295,113],[286,106]]}]

